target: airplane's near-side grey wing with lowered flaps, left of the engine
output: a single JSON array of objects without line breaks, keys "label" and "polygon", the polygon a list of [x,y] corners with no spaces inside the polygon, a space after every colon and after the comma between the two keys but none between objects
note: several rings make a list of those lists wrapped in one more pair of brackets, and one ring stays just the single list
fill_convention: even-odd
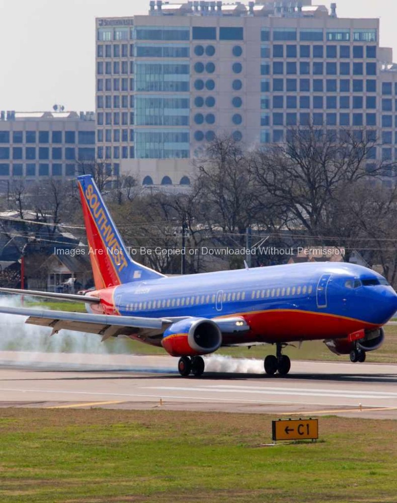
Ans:
[{"label": "airplane's near-side grey wing with lowered flaps, left of the engine", "polygon": [[[139,316],[115,316],[106,314],[77,313],[39,310],[25,307],[0,306],[0,313],[29,316],[26,323],[52,328],[51,335],[61,329],[97,333],[102,341],[119,335],[161,337],[164,330],[176,319],[143,318]],[[182,319],[182,318],[180,318]]]}]

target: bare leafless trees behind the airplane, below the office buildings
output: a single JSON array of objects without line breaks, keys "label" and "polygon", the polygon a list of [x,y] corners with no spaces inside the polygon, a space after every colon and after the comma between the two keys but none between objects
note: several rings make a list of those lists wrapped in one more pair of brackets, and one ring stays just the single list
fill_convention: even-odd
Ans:
[{"label": "bare leafless trees behind the airplane, below the office buildings", "polygon": [[[349,261],[358,252],[380,266],[394,284],[397,274],[397,188],[394,161],[375,157],[376,139],[365,130],[324,133],[312,126],[288,131],[286,141],[253,148],[217,136],[194,162],[195,178],[184,192],[138,187],[132,177],[115,179],[106,162],[86,163],[138,260],[167,274],[244,267],[242,255],[143,253],[141,250],[239,249],[268,246],[335,246]],[[10,184],[3,209],[21,219],[26,210],[85,239],[74,181],[49,179],[35,186]],[[4,230],[4,229],[3,229]],[[284,263],[257,253],[253,266]]]}]

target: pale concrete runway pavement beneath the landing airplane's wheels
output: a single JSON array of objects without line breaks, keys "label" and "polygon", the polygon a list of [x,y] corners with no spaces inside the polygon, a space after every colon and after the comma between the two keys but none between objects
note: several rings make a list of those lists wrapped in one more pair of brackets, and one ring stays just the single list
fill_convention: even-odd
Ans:
[{"label": "pale concrete runway pavement beneath the landing airplane's wheels", "polygon": [[292,362],[267,377],[261,360],[206,359],[182,378],[168,356],[0,352],[0,407],[110,407],[397,418],[397,365]]}]

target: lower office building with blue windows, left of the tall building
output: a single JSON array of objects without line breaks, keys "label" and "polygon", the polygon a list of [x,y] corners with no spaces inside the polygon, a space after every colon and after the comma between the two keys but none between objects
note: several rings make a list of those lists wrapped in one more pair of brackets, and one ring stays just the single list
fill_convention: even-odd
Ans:
[{"label": "lower office building with blue windows, left of the tall building", "polygon": [[94,159],[94,112],[0,112],[0,188],[21,177],[73,178]]}]

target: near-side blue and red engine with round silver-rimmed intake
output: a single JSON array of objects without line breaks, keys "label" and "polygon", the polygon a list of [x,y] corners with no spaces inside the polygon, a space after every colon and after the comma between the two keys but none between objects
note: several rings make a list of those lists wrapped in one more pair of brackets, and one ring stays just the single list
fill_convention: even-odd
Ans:
[{"label": "near-side blue and red engine with round silver-rimmed intake", "polygon": [[218,325],[206,318],[177,321],[164,332],[162,346],[171,356],[207,355],[222,344]]}]

